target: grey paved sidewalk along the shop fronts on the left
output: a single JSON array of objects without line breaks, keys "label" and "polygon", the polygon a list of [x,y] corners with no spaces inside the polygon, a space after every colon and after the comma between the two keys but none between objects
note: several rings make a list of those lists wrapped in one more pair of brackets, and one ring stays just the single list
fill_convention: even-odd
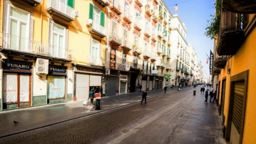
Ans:
[{"label": "grey paved sidewalk along the shop fronts on the left", "polygon": [[[192,90],[193,87],[182,87],[182,90],[187,89]],[[147,99],[167,95],[173,92],[179,91],[177,88],[167,89],[166,94],[164,94],[164,90],[148,91]],[[133,92],[100,97],[100,110],[94,110],[94,106],[83,106],[83,100],[80,100],[76,102],[49,104],[0,112],[0,138],[103,112],[124,105],[138,103],[140,100],[141,93]],[[19,123],[14,124],[13,120],[19,121]]]}]

